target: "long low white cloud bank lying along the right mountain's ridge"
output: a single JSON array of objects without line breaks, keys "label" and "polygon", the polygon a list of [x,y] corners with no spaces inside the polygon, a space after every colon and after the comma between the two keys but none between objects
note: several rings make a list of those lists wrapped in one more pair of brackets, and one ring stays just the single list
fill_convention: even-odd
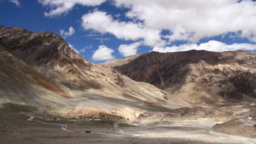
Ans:
[{"label": "long low white cloud bank lying along the right mountain's ridge", "polygon": [[236,51],[236,50],[256,50],[256,44],[249,43],[234,43],[228,45],[223,42],[218,41],[209,41],[207,43],[197,44],[182,44],[179,46],[171,46],[171,47],[154,47],[152,51],[156,52],[177,52],[177,51],[189,51],[189,50],[206,50],[206,51]]}]

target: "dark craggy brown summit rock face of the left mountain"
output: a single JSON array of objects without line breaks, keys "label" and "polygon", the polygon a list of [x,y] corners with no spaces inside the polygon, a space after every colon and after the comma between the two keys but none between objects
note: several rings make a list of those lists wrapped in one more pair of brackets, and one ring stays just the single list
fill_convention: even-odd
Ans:
[{"label": "dark craggy brown summit rock face of the left mountain", "polygon": [[82,59],[79,54],[69,48],[60,35],[49,31],[32,33],[23,28],[0,26],[0,42],[14,57],[29,65],[63,67]]}]

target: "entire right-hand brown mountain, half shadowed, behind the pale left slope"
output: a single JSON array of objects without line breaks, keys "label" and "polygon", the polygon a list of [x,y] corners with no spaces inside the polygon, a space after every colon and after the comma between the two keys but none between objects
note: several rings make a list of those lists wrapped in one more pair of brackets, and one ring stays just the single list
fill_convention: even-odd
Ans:
[{"label": "entire right-hand brown mountain, half shadowed, behind the pale left slope", "polygon": [[[132,57],[131,57],[132,58]],[[256,54],[247,51],[149,52],[106,63],[137,82],[196,105],[255,101]]]}]

